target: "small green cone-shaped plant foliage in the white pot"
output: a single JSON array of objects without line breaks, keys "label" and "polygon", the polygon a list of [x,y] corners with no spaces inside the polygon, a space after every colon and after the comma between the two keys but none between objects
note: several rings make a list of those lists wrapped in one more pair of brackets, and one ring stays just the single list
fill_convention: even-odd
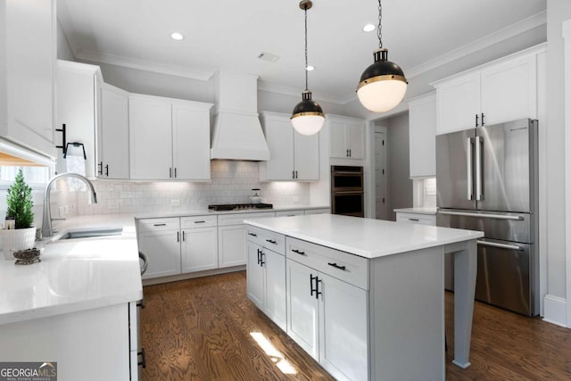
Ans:
[{"label": "small green cone-shaped plant foliage in the white pot", "polygon": [[14,183],[8,188],[6,197],[8,209],[6,217],[15,219],[15,228],[30,228],[34,223],[34,201],[32,188],[24,180],[24,174],[18,170]]}]

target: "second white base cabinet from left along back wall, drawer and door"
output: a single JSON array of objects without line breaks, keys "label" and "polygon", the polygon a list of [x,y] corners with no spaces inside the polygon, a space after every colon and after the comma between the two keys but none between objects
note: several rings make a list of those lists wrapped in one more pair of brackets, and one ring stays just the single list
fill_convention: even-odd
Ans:
[{"label": "second white base cabinet from left along back wall, drawer and door", "polygon": [[218,268],[216,216],[184,217],[181,228],[181,272]]}]

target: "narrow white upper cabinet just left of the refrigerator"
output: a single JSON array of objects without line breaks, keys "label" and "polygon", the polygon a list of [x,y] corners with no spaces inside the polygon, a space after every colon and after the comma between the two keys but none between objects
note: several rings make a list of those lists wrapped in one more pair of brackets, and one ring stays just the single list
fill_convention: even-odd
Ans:
[{"label": "narrow white upper cabinet just left of the refrigerator", "polygon": [[410,178],[436,176],[436,93],[409,102]]}]

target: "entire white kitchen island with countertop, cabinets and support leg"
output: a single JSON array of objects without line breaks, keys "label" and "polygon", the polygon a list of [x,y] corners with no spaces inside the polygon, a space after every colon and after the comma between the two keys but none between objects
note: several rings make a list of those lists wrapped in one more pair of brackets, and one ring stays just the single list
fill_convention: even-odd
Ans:
[{"label": "entire white kitchen island with countertop, cabinets and support leg", "polygon": [[481,232],[331,214],[246,219],[248,296],[337,379],[444,380],[443,254],[454,360],[469,363]]}]

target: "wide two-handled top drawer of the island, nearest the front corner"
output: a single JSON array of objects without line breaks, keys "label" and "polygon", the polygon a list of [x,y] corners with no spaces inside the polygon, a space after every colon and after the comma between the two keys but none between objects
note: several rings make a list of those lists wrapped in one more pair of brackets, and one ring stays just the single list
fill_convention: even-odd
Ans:
[{"label": "wide two-handled top drawer of the island, nearest the front corner", "polygon": [[368,290],[368,259],[287,237],[285,256],[353,286]]}]

